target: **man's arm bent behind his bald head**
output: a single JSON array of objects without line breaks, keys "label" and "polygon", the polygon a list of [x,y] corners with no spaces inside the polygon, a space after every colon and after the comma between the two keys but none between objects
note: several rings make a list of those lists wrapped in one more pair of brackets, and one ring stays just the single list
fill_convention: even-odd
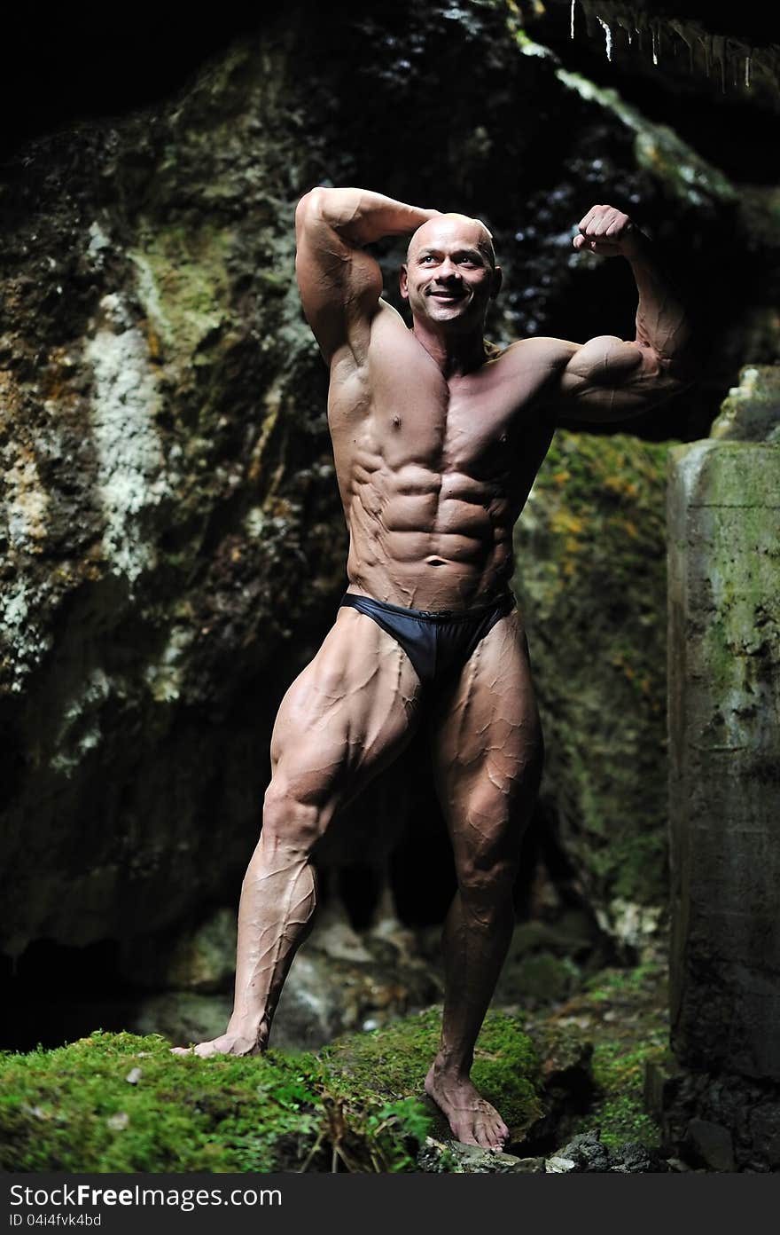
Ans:
[{"label": "man's arm bent behind his bald head", "polygon": [[367,189],[312,189],[295,211],[301,304],[327,362],[349,347],[358,363],[381,294],[378,262],[363,245],[413,232],[438,210]]}]

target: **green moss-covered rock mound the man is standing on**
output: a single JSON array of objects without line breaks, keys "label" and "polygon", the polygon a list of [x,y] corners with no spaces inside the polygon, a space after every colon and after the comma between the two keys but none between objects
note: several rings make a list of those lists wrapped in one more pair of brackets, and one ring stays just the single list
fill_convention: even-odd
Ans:
[{"label": "green moss-covered rock mound the man is standing on", "polygon": [[[0,1170],[417,1170],[426,1136],[450,1135],[422,1088],[439,1023],[429,1009],[344,1037],[322,1057],[176,1057],[159,1035],[101,1031],[6,1052]],[[487,1018],[473,1076],[513,1135],[537,1118],[538,1065],[511,1016]]]}]

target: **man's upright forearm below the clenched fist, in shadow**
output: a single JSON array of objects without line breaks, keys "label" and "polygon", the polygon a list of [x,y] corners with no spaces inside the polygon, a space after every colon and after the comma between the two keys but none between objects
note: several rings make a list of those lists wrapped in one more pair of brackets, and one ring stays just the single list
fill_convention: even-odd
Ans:
[{"label": "man's upright forearm below the clenched fist, in shadow", "polygon": [[636,252],[626,254],[639,293],[637,342],[650,347],[673,371],[681,369],[689,359],[690,321],[653,242],[639,235]]}]

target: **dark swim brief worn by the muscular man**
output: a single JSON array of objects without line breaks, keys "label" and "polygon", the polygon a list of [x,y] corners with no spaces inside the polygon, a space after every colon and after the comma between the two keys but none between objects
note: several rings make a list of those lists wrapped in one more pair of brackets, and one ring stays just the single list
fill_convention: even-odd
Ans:
[{"label": "dark swim brief worn by the muscular man", "polygon": [[441,682],[465,664],[480,638],[515,608],[515,598],[506,593],[490,605],[460,611],[405,609],[347,592],[342,605],[365,614],[392,635],[412,662],[420,680],[428,684]]}]

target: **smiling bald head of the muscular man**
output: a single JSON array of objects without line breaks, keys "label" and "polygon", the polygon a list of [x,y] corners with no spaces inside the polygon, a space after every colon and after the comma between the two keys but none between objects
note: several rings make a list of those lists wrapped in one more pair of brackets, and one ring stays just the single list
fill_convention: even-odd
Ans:
[{"label": "smiling bald head of the muscular man", "polygon": [[412,317],[446,331],[481,331],[501,287],[492,237],[479,219],[438,215],[418,227],[401,267]]}]

